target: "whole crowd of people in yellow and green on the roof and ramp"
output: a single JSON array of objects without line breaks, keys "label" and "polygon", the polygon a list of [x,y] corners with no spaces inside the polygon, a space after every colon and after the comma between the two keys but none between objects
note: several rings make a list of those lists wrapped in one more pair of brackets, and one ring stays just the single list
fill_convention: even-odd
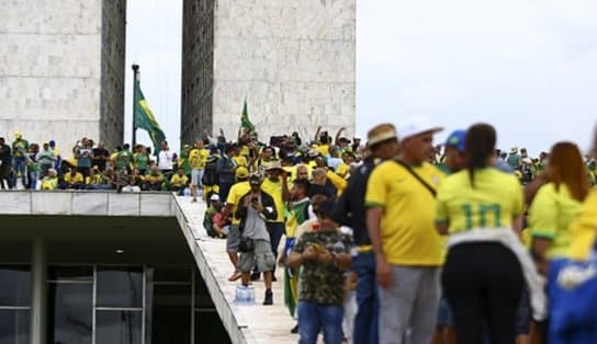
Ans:
[{"label": "whole crowd of people in yellow and green on the roof and ramp", "polygon": [[[320,333],[326,343],[597,343],[586,311],[597,287],[579,288],[596,275],[583,273],[597,234],[595,151],[565,141],[538,158],[502,151],[487,124],[433,147],[441,130],[424,117],[376,125],[367,142],[343,128],[269,142],[221,130],[179,153],[164,141],[156,156],[83,138],[68,159],[16,133],[12,145],[0,138],[0,184],[203,199],[207,234],[226,240],[228,279],[262,277],[268,306],[281,278],[300,343]],[[584,296],[584,308],[571,302]]]}]

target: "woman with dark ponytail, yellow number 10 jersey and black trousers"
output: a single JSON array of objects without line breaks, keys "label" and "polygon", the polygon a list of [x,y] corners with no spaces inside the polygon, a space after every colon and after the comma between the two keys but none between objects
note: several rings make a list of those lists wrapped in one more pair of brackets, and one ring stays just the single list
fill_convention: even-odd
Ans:
[{"label": "woman with dark ponytail, yellow number 10 jersey and black trousers", "polygon": [[492,126],[469,128],[466,170],[448,176],[437,195],[436,226],[450,237],[442,287],[459,343],[483,343],[485,328],[492,343],[516,341],[525,277],[516,253],[495,238],[520,245],[514,230],[521,229],[525,204],[516,176],[492,165],[495,144]]}]

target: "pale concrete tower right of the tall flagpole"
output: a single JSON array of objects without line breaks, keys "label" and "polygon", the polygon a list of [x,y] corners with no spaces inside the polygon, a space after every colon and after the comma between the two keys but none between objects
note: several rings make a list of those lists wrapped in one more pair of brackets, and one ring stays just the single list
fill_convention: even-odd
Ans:
[{"label": "pale concrete tower right of the tall flagpole", "polygon": [[[354,129],[356,0],[183,0],[181,139]],[[334,135],[334,134],[331,134]]]}]

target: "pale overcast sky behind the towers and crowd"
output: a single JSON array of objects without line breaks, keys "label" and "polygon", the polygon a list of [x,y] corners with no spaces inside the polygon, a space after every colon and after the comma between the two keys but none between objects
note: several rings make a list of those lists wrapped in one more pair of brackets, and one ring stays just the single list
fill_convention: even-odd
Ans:
[{"label": "pale overcast sky behind the towers and crowd", "polygon": [[[588,148],[597,123],[597,1],[357,1],[360,135],[428,115],[447,131],[488,122],[504,149],[534,153],[562,139]],[[126,112],[134,60],[149,105],[178,141],[182,1],[128,0],[127,15]]]}]

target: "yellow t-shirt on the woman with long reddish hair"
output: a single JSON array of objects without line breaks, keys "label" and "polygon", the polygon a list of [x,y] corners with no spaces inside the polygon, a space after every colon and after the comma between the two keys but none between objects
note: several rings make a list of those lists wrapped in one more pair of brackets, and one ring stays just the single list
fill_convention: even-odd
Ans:
[{"label": "yellow t-shirt on the woman with long reddish hair", "polygon": [[566,256],[570,246],[570,223],[581,211],[581,203],[572,198],[566,184],[549,183],[539,190],[529,209],[531,236],[552,240],[548,257]]}]

